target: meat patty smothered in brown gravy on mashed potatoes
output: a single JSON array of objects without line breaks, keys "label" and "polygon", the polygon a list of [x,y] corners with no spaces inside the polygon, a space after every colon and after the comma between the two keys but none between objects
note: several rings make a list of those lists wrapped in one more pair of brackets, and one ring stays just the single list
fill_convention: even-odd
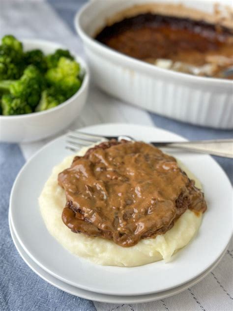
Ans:
[{"label": "meat patty smothered in brown gravy on mashed potatoes", "polygon": [[143,142],[101,143],[76,156],[58,183],[67,199],[64,224],[122,247],[165,233],[188,208],[206,210],[175,158]]}]

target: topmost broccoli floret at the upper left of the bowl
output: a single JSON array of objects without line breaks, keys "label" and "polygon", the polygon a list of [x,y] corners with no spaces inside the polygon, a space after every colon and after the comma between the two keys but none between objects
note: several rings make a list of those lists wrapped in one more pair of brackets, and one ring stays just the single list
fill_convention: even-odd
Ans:
[{"label": "topmost broccoli floret at the upper left of the bowl", "polygon": [[4,36],[0,45],[0,80],[19,79],[24,67],[22,43],[12,35]]}]

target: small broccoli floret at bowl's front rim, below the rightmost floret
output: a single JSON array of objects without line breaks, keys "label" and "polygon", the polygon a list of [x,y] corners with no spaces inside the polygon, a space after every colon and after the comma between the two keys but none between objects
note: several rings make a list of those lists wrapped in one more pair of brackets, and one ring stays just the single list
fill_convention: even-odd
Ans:
[{"label": "small broccoli floret at bowl's front rim, below the rightmost floret", "polygon": [[66,100],[65,96],[55,87],[51,87],[42,92],[42,96],[35,111],[44,111],[54,108]]}]

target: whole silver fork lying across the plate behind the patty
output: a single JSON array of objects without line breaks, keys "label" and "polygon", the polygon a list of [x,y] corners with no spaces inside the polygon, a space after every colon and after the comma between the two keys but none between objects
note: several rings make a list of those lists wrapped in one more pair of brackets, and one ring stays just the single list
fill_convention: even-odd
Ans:
[{"label": "whole silver fork lying across the plate behind the patty", "polygon": [[[101,136],[75,130],[67,133],[65,148],[75,152],[82,147],[87,147],[99,143],[100,141],[110,139],[116,139],[117,141],[120,141],[121,139],[134,141],[132,137],[126,135]],[[199,140],[188,142],[150,142],[150,144],[159,148],[183,149],[214,156],[233,158],[233,139]]]}]

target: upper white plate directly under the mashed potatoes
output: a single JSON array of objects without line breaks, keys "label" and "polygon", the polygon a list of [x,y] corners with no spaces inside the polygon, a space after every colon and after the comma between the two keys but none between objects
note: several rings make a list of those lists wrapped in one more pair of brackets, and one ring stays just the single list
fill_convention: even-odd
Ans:
[{"label": "upper white plate directly under the mashed potatoes", "polygon": [[[102,124],[86,132],[130,135],[137,140],[182,140],[171,132],[132,124]],[[202,275],[223,253],[232,235],[232,187],[222,168],[207,155],[177,152],[202,182],[208,209],[198,235],[164,261],[125,268],[100,266],[77,257],[49,234],[40,215],[38,197],[54,165],[70,153],[61,136],[37,152],[21,169],[10,198],[10,216],[18,241],[41,268],[73,286],[110,295],[145,295],[180,286]]]}]

